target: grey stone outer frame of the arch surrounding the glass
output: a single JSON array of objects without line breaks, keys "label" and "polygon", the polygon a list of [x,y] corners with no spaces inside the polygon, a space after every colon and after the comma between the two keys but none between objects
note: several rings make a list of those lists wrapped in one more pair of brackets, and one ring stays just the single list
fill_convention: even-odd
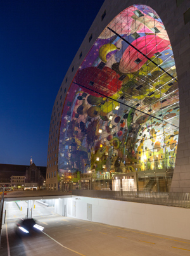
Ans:
[{"label": "grey stone outer frame of the arch surrounding the glass", "polygon": [[[160,16],[165,29],[167,30],[170,43],[174,52],[177,77],[179,82],[180,101],[180,125],[179,143],[177,148],[177,158],[175,170],[172,178],[170,191],[190,192],[190,115],[189,115],[189,22],[188,12],[189,1],[181,1],[177,6],[176,1],[141,1],[141,4],[150,6]],[[54,101],[53,112],[49,129],[49,142],[47,153],[47,188],[58,189],[58,141],[60,134],[60,120],[66,93],[72,83],[78,68],[84,60],[92,45],[105,29],[108,23],[121,11],[125,10],[134,1],[105,1],[99,10],[96,19],[92,23],[89,32],[82,42],[79,51],[75,55],[68,72],[63,79],[60,90]],[[106,11],[106,12],[105,12]],[[106,14],[102,20],[102,15]],[[185,15],[184,15],[185,13]],[[184,17],[186,20],[184,20]],[[186,23],[186,25],[185,25]],[[91,40],[90,40],[91,38]]]}]

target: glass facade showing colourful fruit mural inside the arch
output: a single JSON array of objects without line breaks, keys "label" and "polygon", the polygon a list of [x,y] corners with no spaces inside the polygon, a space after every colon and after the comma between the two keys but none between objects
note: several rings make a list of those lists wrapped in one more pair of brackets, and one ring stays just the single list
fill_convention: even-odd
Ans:
[{"label": "glass facade showing colourful fruit mural inside the arch", "polygon": [[[113,176],[136,173],[139,191],[169,191],[178,134],[179,92],[167,31],[150,7],[130,6],[99,35],[68,89],[58,183],[118,189]],[[124,178],[122,188],[132,182]]]}]

